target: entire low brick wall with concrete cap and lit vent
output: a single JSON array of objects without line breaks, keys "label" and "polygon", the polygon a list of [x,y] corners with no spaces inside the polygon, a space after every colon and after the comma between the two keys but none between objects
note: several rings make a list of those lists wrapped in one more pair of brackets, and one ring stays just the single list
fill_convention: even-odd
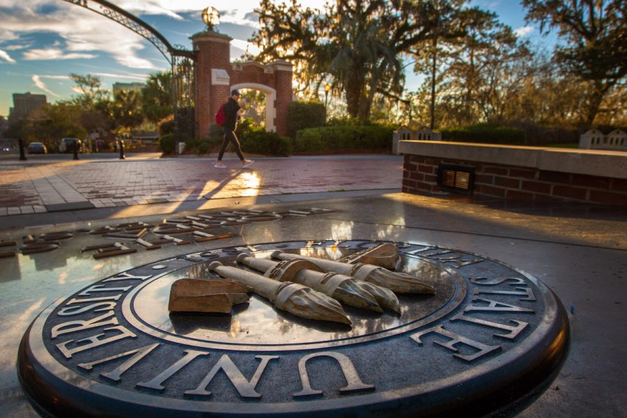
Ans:
[{"label": "entire low brick wall with concrete cap and lit vent", "polygon": [[627,153],[400,141],[403,192],[627,206]]}]

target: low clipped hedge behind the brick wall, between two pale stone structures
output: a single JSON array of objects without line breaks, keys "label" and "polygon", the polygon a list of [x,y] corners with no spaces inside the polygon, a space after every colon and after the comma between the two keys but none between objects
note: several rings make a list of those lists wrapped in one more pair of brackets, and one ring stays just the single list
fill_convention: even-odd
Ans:
[{"label": "low clipped hedge behind the brick wall, between two pale stone structures", "polygon": [[525,130],[499,125],[472,125],[443,129],[442,141],[481,142],[485,144],[525,144]]}]

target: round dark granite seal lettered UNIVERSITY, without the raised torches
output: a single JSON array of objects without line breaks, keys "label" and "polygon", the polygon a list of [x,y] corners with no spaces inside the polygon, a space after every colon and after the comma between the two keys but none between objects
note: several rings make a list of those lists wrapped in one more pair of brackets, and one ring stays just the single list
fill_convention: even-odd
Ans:
[{"label": "round dark granite seal lettered UNIVERSITY, without the raised torches", "polygon": [[481,416],[538,396],[566,357],[568,320],[540,281],[477,254],[394,242],[397,271],[435,288],[401,314],[344,307],[307,320],[252,295],[230,315],[168,311],[182,278],[272,251],[339,259],[369,240],[274,242],[185,254],[58,300],[22,339],[18,374],[58,417]]}]

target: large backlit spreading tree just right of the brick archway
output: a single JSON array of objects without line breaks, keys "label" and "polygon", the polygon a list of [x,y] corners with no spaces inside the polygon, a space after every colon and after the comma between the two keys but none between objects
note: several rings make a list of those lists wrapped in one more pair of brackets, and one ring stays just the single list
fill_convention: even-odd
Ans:
[{"label": "large backlit spreading tree just right of the brick archway", "polygon": [[[324,12],[262,0],[252,39],[262,59],[295,63],[302,91],[318,91],[326,75],[344,93],[348,114],[366,121],[377,95],[403,91],[403,55],[431,37],[430,1],[336,0]],[[312,96],[315,94],[312,94]]]}]

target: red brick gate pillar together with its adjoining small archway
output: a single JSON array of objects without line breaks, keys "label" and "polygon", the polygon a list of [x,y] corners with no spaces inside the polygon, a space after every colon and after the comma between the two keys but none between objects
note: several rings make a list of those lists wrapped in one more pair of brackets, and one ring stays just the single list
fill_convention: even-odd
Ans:
[{"label": "red brick gate pillar together with its adjoining small archway", "polygon": [[254,88],[266,95],[265,129],[287,135],[288,107],[292,102],[292,65],[274,61],[231,64],[232,38],[214,31],[192,36],[196,54],[196,121],[199,137],[206,137],[215,123],[218,107],[233,88]]}]

